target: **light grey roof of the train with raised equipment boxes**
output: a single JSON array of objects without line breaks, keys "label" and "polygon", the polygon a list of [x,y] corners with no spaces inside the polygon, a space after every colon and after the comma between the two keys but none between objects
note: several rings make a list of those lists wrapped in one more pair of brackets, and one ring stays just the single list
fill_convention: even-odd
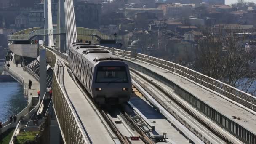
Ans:
[{"label": "light grey roof of the train with raised equipment boxes", "polygon": [[83,45],[79,43],[78,45],[73,44],[72,48],[74,51],[77,51],[77,53],[79,53],[80,55],[85,56],[85,58],[91,61],[93,64],[96,64],[96,62],[98,61],[122,61],[122,59],[112,55],[111,53],[109,53],[109,51],[102,48],[98,48],[95,45]]}]

